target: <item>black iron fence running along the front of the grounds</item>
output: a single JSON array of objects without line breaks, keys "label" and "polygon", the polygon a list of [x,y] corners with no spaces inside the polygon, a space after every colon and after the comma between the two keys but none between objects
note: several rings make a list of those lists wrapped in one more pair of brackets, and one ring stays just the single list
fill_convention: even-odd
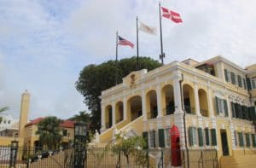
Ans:
[{"label": "black iron fence running along the front of the grounds", "polygon": [[[57,148],[46,151],[38,148],[11,146],[0,147],[0,167],[34,168],[73,168],[78,151],[74,148]],[[119,148],[88,147],[82,154],[84,167],[122,168],[122,167],[171,167],[172,154],[179,154],[180,165],[184,168],[218,167],[217,151],[214,149],[181,150],[178,153],[170,148],[140,149],[124,153]],[[82,158],[80,158],[82,159]]]}]

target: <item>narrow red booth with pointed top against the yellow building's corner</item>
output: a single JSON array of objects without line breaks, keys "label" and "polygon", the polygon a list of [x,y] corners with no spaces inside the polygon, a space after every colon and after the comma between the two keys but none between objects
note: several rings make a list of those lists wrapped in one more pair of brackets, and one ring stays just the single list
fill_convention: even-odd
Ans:
[{"label": "narrow red booth with pointed top against the yellow building's corner", "polygon": [[173,125],[170,130],[172,166],[181,166],[179,130]]}]

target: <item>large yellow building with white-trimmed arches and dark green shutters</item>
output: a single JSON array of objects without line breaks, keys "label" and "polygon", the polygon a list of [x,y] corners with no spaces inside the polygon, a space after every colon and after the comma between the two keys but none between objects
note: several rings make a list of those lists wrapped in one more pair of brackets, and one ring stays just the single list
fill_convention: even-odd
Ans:
[{"label": "large yellow building with white-trimmed arches and dark green shutters", "polygon": [[100,98],[100,142],[125,131],[147,137],[149,148],[168,148],[169,130],[177,125],[182,149],[214,148],[218,158],[256,149],[255,64],[243,69],[222,56],[173,61],[131,72]]}]

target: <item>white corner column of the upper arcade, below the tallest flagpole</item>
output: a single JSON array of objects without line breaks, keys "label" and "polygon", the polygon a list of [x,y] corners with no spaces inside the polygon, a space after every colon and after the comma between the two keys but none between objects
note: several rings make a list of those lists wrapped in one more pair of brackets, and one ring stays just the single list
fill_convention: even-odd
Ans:
[{"label": "white corner column of the upper arcade, below the tallest flagpole", "polygon": [[173,88],[174,88],[174,103],[175,103],[175,112],[174,113],[183,113],[182,111],[182,101],[181,101],[181,90],[178,76],[173,79]]}]

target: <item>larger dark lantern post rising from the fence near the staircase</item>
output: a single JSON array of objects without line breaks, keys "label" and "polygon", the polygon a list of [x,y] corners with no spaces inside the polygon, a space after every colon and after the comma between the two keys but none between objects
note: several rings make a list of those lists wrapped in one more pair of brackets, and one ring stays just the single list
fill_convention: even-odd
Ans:
[{"label": "larger dark lantern post rising from the fence near the staircase", "polygon": [[86,125],[82,122],[74,124],[74,140],[73,140],[73,167],[84,168],[84,161],[86,159]]}]

